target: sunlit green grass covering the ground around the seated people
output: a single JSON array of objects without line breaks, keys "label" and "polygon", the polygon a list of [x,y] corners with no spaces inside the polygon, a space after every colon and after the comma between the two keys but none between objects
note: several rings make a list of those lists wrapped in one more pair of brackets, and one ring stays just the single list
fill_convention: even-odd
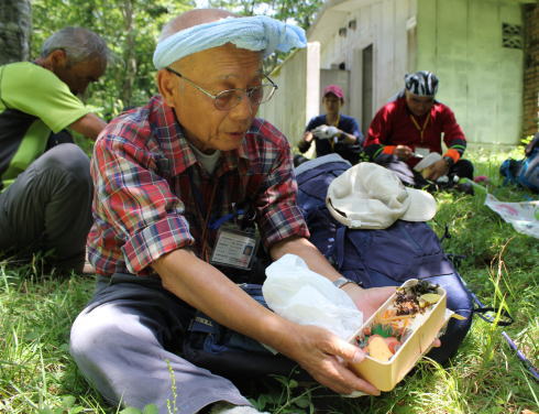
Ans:
[{"label": "sunlit green grass covering the ground around the seated people", "polygon": [[[475,151],[477,175],[491,177],[498,199],[537,195],[502,187],[498,166],[507,153]],[[513,156],[521,156],[514,152]],[[483,205],[484,197],[439,193],[432,227],[449,226],[448,252],[465,258],[460,273],[481,301],[505,307],[515,318],[506,328],[475,317],[471,331],[448,367],[422,360],[394,391],[380,397],[346,400],[320,386],[305,389],[279,378],[252,394],[272,413],[482,413],[539,411],[538,383],[502,337],[505,330],[538,367],[539,241],[519,235]],[[69,327],[91,295],[94,280],[44,274],[40,261],[0,262],[0,413],[119,413],[92,391],[68,355]],[[178,390],[180,392],[182,390]],[[124,413],[136,411],[123,410]],[[152,410],[147,410],[147,413]]]}]

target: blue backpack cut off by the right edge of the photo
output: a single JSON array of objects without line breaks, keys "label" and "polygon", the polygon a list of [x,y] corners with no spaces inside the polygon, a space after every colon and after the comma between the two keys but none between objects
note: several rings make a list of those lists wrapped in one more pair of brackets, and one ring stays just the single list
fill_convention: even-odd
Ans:
[{"label": "blue backpack cut off by the right edge of the photo", "polygon": [[526,145],[522,160],[507,159],[501,167],[504,185],[515,184],[539,193],[539,132]]}]

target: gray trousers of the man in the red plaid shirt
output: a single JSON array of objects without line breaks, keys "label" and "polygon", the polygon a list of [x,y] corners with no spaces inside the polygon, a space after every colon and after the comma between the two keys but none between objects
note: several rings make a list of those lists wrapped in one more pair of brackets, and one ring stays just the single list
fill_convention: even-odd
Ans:
[{"label": "gray trousers of the man in the red plaid shirt", "polygon": [[113,404],[143,408],[153,403],[167,413],[168,402],[179,414],[221,400],[251,405],[232,382],[178,356],[194,312],[158,279],[100,276],[94,298],[73,324],[70,353]]}]

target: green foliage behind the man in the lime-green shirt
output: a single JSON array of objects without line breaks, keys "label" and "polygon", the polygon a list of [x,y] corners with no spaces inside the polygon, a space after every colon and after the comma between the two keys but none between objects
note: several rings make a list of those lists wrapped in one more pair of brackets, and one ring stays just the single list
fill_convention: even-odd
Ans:
[{"label": "green foliage behind the man in the lime-green shirt", "polygon": [[156,94],[152,57],[165,22],[193,8],[188,0],[34,0],[31,55],[51,34],[68,26],[84,26],[101,35],[112,52],[109,67],[91,85],[85,100],[110,120],[123,108],[145,103]]}]

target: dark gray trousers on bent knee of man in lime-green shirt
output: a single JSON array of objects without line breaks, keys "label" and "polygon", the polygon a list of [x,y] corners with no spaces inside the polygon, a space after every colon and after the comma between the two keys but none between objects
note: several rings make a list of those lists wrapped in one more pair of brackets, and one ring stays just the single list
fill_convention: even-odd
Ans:
[{"label": "dark gray trousers on bent knee of man in lime-green shirt", "polygon": [[82,150],[65,143],[46,151],[0,194],[0,250],[23,259],[52,252],[58,268],[80,271],[91,196]]}]

